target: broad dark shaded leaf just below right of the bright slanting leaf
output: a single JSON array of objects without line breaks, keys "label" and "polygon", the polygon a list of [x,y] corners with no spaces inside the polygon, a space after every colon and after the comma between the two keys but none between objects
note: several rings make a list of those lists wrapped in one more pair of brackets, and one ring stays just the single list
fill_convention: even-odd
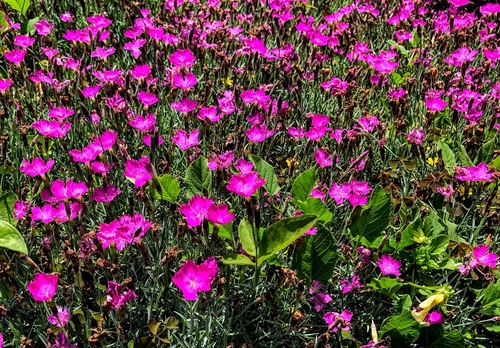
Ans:
[{"label": "broad dark shaded leaf just below right of the bright slanting leaf", "polygon": [[335,268],[337,245],[331,232],[322,225],[314,236],[307,236],[293,254],[292,267],[297,271],[297,277],[307,284],[313,280],[322,283],[332,278]]}]

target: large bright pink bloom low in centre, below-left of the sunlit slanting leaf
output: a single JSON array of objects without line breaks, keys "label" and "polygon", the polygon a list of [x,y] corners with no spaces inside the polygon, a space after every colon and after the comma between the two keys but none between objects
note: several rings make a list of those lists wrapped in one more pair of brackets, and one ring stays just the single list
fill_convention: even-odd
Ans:
[{"label": "large bright pink bloom low in centre, below-left of the sunlit slanting leaf", "polygon": [[213,256],[200,265],[187,260],[172,277],[174,284],[182,291],[185,300],[196,301],[198,292],[210,291],[210,285],[217,276],[217,261]]}]

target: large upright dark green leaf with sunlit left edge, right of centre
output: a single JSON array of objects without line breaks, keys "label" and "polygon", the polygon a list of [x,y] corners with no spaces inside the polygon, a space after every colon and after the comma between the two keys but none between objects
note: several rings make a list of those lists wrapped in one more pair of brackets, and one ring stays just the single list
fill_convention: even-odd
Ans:
[{"label": "large upright dark green leaf with sunlit left edge, right of centre", "polygon": [[384,189],[377,187],[367,205],[354,209],[349,231],[361,244],[370,247],[389,226],[391,214],[391,196]]}]

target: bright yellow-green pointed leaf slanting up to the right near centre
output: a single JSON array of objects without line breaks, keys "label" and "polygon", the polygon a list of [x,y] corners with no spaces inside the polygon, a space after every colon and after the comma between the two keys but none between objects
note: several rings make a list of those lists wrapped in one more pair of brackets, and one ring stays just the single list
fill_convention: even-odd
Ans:
[{"label": "bright yellow-green pointed leaf slanting up to the right near centre", "polygon": [[316,215],[300,215],[282,219],[264,230],[258,246],[261,265],[278,251],[285,249],[316,223]]}]

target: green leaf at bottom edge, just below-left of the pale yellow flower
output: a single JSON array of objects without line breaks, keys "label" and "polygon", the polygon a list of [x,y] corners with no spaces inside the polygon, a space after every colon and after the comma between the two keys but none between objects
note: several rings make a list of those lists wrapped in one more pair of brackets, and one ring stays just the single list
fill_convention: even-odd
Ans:
[{"label": "green leaf at bottom edge, just below-left of the pale yellow flower", "polygon": [[380,336],[390,336],[393,347],[409,347],[419,334],[420,324],[413,319],[410,311],[387,318],[380,328]]}]

